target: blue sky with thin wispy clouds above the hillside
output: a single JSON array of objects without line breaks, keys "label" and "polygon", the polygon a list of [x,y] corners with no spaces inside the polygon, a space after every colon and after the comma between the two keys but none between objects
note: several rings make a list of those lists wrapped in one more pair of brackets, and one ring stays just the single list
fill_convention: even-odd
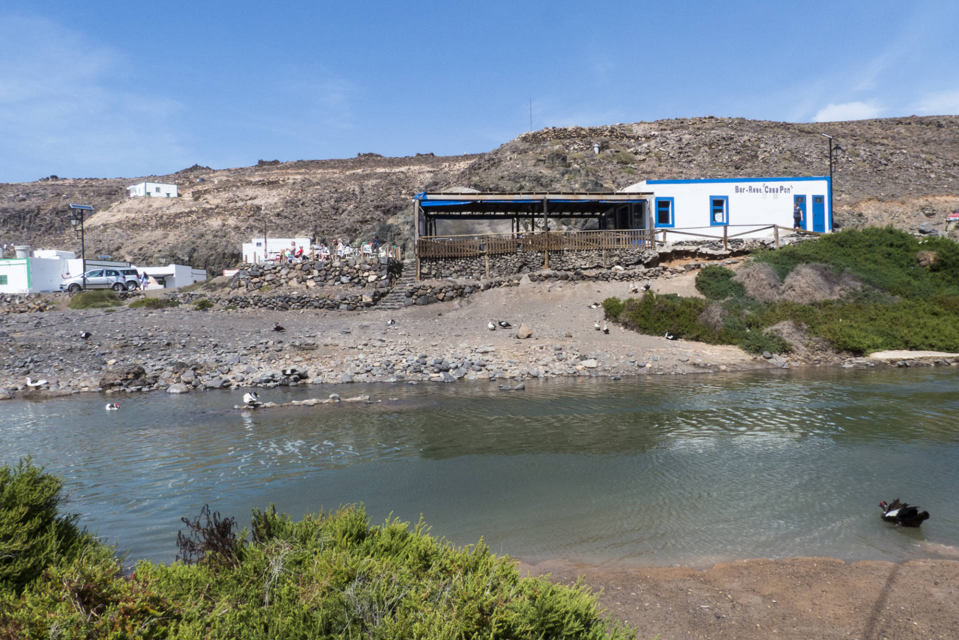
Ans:
[{"label": "blue sky with thin wispy clouds above the hillside", "polygon": [[489,151],[686,116],[959,113],[959,3],[0,5],[0,181]]}]

